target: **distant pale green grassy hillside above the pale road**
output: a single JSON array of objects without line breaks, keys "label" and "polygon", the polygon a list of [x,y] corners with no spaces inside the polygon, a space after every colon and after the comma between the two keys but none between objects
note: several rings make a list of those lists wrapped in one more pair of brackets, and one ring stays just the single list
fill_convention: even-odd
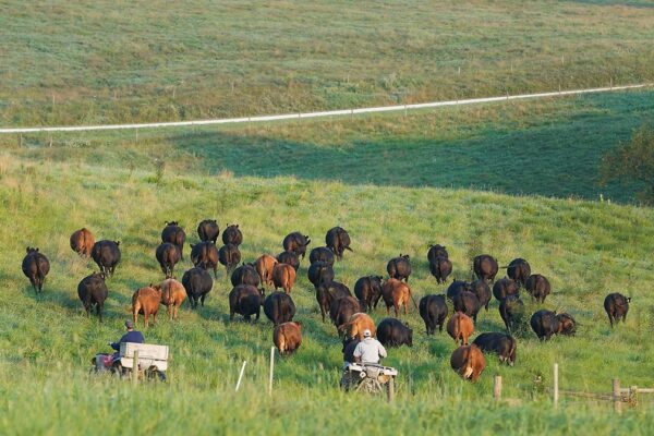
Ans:
[{"label": "distant pale green grassy hillside above the pale road", "polygon": [[650,82],[649,1],[0,7],[0,123],[276,113]]}]

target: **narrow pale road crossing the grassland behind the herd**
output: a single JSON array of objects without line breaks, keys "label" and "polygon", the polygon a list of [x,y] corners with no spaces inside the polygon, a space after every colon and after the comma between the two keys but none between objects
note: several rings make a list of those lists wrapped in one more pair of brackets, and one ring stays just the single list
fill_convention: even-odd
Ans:
[{"label": "narrow pale road crossing the grassland behind the herd", "polygon": [[396,112],[396,111],[409,111],[431,108],[441,108],[448,106],[463,106],[463,105],[475,105],[484,102],[497,102],[497,101],[511,101],[511,100],[524,100],[524,99],[537,99],[548,97],[562,97],[571,95],[582,94],[597,94],[608,93],[614,90],[630,90],[640,89],[653,86],[654,83],[641,83],[632,85],[620,85],[600,88],[585,88],[585,89],[559,89],[548,93],[535,93],[535,94],[517,94],[506,95],[496,97],[483,97],[483,98],[469,98],[469,99],[456,99],[445,101],[431,101],[412,105],[393,105],[393,106],[379,106],[368,108],[356,108],[356,109],[339,109],[328,110],[322,112],[305,112],[305,113],[283,113],[274,116],[255,116],[255,117],[240,117],[240,118],[223,118],[223,119],[210,119],[210,120],[191,120],[191,121],[169,121],[158,123],[131,123],[131,124],[96,124],[96,125],[64,125],[64,126],[38,126],[38,128],[4,128],[0,129],[0,134],[8,133],[39,133],[39,132],[89,132],[89,131],[106,131],[106,130],[135,130],[135,129],[164,129],[164,128],[180,128],[180,126],[194,126],[194,125],[210,125],[210,124],[238,124],[238,123],[253,123],[253,122],[269,122],[269,121],[282,121],[282,120],[294,120],[294,119],[307,119],[307,118],[322,118],[322,117],[344,117],[355,116],[362,113],[375,113],[375,112]]}]

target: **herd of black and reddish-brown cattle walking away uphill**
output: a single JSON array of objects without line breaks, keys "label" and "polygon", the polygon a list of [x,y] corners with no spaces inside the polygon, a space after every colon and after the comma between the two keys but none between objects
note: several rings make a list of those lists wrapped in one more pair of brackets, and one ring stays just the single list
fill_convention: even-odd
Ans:
[{"label": "herd of black and reddish-brown cattle walking away uphill", "polygon": [[[300,259],[304,258],[311,239],[300,232],[288,234],[283,241],[283,252],[278,256],[264,254],[254,263],[241,263],[239,246],[243,234],[238,225],[228,226],[222,232],[223,245],[218,249],[216,242],[220,234],[216,220],[203,220],[197,227],[201,242],[191,244],[191,261],[194,267],[182,276],[181,282],[172,278],[175,265],[183,259],[186,234],[178,222],[167,222],[161,232],[161,244],[156,250],[156,258],[166,279],[136,290],[132,296],[132,314],[134,323],[138,314],[144,315],[145,327],[149,316],[156,322],[160,304],[168,307],[171,319],[177,319],[182,302],[189,298],[192,308],[197,303],[204,306],[206,295],[211,291],[214,281],[209,270],[217,277],[218,264],[226,267],[231,275],[232,291],[229,293],[230,319],[234,314],[250,320],[252,316],[259,318],[261,307],[275,325],[272,340],[281,354],[294,352],[302,343],[301,323],[293,322],[295,304],[291,291],[295,275],[300,268]],[[94,272],[80,281],[77,294],[87,315],[95,306],[102,320],[102,306],[109,294],[106,279],[113,275],[121,259],[120,243],[114,241],[95,241],[93,233],[83,228],[70,238],[71,249],[81,256],[90,256],[98,265],[99,272]],[[450,358],[452,368],[463,378],[476,380],[485,367],[483,352],[496,353],[501,362],[510,365],[516,361],[516,339],[512,331],[524,319],[524,304],[519,290],[526,292],[538,303],[552,292],[549,281],[540,274],[531,274],[530,264],[522,258],[512,261],[507,267],[507,276],[499,280],[495,277],[499,270],[498,263],[489,255],[479,255],[473,259],[472,269],[477,280],[467,282],[453,280],[445,295],[425,295],[416,304],[409,287],[411,261],[409,255],[400,254],[387,264],[388,278],[365,276],[354,284],[354,296],[350,289],[335,280],[334,264],[342,259],[350,249],[348,232],[335,227],[325,237],[325,246],[315,247],[310,253],[307,278],[315,288],[316,300],[323,322],[326,314],[337,327],[343,339],[343,359],[352,361],[352,352],[363,340],[363,331],[370,329],[377,339],[387,347],[412,346],[413,331],[397,318],[385,318],[378,325],[367,315],[377,307],[379,300],[390,308],[396,317],[403,307],[404,315],[409,311],[409,301],[419,310],[424,319],[426,334],[434,335],[436,326],[443,331],[449,314],[448,301],[453,313],[447,322],[447,331],[460,347]],[[429,271],[438,283],[445,283],[452,272],[452,263],[445,246],[432,245],[427,253]],[[38,249],[27,247],[23,259],[23,272],[29,278],[36,292],[41,292],[50,264]],[[492,286],[492,288],[491,288]],[[265,287],[275,291],[265,296]],[[282,289],[283,292],[277,291]],[[488,303],[494,295],[499,301],[499,313],[506,325],[507,334],[484,332],[479,335],[472,344],[469,338],[474,331],[477,313],[482,307],[488,311]],[[620,293],[606,296],[604,307],[611,327],[620,319],[626,320],[630,299]],[[576,320],[567,313],[555,313],[547,310],[535,312],[530,325],[541,340],[548,340],[553,335],[574,335]]]}]

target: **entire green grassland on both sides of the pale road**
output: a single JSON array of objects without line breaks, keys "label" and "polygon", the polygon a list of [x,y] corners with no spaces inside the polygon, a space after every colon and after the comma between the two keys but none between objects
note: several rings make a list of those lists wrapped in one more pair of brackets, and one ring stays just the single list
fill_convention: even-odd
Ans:
[{"label": "entire green grassland on both sides of the pale road", "polygon": [[[654,77],[650,1],[48,2],[0,5],[0,124],[83,124],[279,113],[635,83]],[[459,73],[459,66],[461,68]],[[598,184],[604,152],[654,116],[654,92],[586,95],[354,118],[136,132],[0,136],[0,434],[643,434],[654,403],[621,416],[608,392],[654,386],[654,211],[638,184]],[[603,198],[604,201],[600,201]],[[452,277],[471,259],[526,258],[547,276],[543,305],[579,322],[573,338],[517,334],[514,367],[488,355],[476,384],[449,367],[453,341],[427,338],[414,307],[414,347],[390,350],[397,399],[338,389],[341,344],[323,324],[302,263],[292,298],[299,352],[277,360],[272,326],[229,320],[225,270],[205,307],[165,311],[145,331],[171,349],[169,382],[137,388],[88,374],[123,332],[135,289],[161,279],[165,221],[187,242],[216,218],[244,233],[244,261],[277,254],[302,231],[312,245],[342,226],[353,253],[335,267],[353,288],[411,255],[419,300],[443,293],[429,243],[447,245]],[[88,227],[120,240],[105,323],[87,318],[78,281],[96,269],[69,246]],[[21,271],[25,246],[51,263],[43,294]],[[189,249],[186,249],[189,255]],[[181,277],[191,267],[178,265]],[[500,270],[500,275],[504,270]],[[610,329],[607,293],[632,296]],[[540,306],[523,298],[529,314]],[[502,331],[498,303],[476,332]],[[263,315],[263,314],[262,314]],[[376,322],[384,308],[373,313]],[[142,325],[140,323],[140,325]],[[234,392],[242,362],[243,386]],[[493,376],[504,398],[492,397]],[[537,378],[542,383],[535,383]]]}]

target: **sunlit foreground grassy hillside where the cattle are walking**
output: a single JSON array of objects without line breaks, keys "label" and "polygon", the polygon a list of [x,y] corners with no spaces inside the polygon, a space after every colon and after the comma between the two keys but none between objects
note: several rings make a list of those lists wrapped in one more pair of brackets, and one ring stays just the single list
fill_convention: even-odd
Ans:
[{"label": "sunlit foreground grassy hillside where the cattle are walking", "polygon": [[[609,405],[574,400],[555,411],[533,380],[542,376],[550,386],[552,363],[558,362],[568,389],[608,391],[615,376],[625,385],[651,385],[652,209],[294,178],[170,174],[156,183],[153,172],[141,169],[43,162],[11,154],[0,159],[0,433],[651,433],[646,401],[621,420],[605,413]],[[133,389],[87,376],[93,353],[107,350],[105,343],[121,334],[133,290],[160,279],[154,251],[164,221],[180,220],[193,242],[195,225],[205,217],[218,218],[221,228],[241,225],[246,261],[281,251],[290,231],[318,242],[328,228],[341,225],[352,235],[354,253],[337,264],[338,279],[352,287],[360,276],[384,274],[387,259],[399,252],[409,253],[416,298],[445,289],[428,275],[429,242],[448,246],[459,278],[470,277],[475,254],[492,253],[500,264],[521,256],[553,282],[544,306],[570,312],[579,332],[540,343],[526,330],[519,335],[517,365],[500,366],[488,356],[481,382],[472,385],[449,368],[453,341],[446,335],[425,337],[412,307],[402,319],[414,328],[414,347],[392,350],[387,361],[401,374],[397,401],[346,396],[336,387],[340,343],[336,329],[319,320],[304,261],[292,293],[304,343],[296,355],[278,362],[272,400],[264,388],[271,325],[229,322],[223,271],[206,307],[185,307],[177,323],[162,316],[146,331],[149,342],[171,347],[169,384]],[[78,280],[94,269],[68,246],[70,233],[82,226],[123,247],[101,325],[83,315],[75,294]],[[20,270],[25,245],[50,257],[43,295],[33,293]],[[178,275],[189,266],[183,263]],[[633,300],[627,324],[611,331],[602,302],[614,291]],[[530,313],[537,308],[525,302]],[[380,320],[384,312],[378,308],[374,318]],[[501,328],[494,301],[481,314],[477,331]],[[243,360],[249,361],[244,387],[235,395]],[[518,402],[491,403],[495,374],[504,376],[505,397]]]}]

